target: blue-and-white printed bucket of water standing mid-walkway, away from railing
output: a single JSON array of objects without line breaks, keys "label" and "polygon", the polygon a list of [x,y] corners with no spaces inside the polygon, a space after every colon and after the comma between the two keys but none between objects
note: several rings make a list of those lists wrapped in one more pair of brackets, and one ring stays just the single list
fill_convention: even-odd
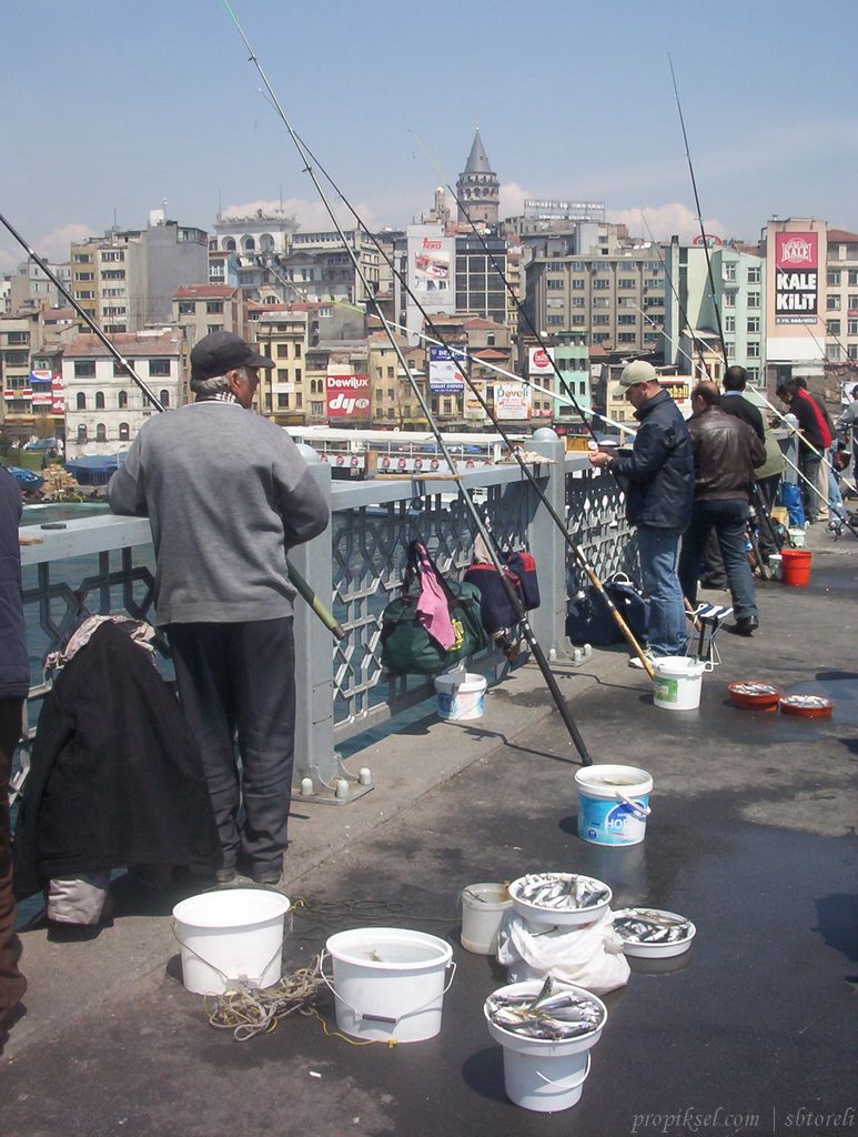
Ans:
[{"label": "blue-and-white printed bucket of water standing mid-walkway, away from railing", "polygon": [[582,766],[578,837],[593,845],[640,845],[647,836],[652,778],[638,766]]}]

